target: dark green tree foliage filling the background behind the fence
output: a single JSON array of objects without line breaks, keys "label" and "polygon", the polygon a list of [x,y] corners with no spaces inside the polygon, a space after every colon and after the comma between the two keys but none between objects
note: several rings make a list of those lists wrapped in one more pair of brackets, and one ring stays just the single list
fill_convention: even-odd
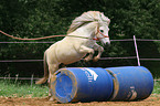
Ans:
[{"label": "dark green tree foliage filling the background behind the fence", "polygon": [[[160,39],[160,0],[0,0],[0,30],[21,38],[39,38],[66,34],[73,19],[85,11],[102,11],[110,22],[110,39]],[[0,41],[17,41],[2,34]],[[56,42],[62,38],[42,41]],[[0,44],[0,60],[42,59],[51,44]],[[150,46],[151,45],[151,46]],[[156,54],[159,57],[160,43],[138,43],[141,57]],[[148,52],[148,46],[152,52]],[[136,55],[134,42],[111,42],[105,46],[103,56]],[[8,73],[42,73],[42,64],[1,63],[1,75]],[[136,60],[111,60],[98,63],[77,62],[71,66],[121,66],[137,65]],[[148,63],[142,64],[150,66]],[[152,65],[153,66],[153,65]],[[30,67],[30,68],[26,68]],[[158,67],[159,68],[159,67]],[[24,70],[22,72],[21,70]],[[30,70],[30,71],[29,71]]]}]

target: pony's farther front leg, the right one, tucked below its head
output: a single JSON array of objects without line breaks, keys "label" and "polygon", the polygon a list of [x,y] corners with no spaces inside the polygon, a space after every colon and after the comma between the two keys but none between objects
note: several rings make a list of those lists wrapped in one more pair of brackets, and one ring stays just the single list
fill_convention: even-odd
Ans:
[{"label": "pony's farther front leg, the right one, tucked below its head", "polygon": [[100,45],[98,45],[97,43],[94,45],[94,50],[95,51],[98,51],[98,55],[97,56],[95,56],[94,57],[94,62],[97,62],[99,59],[100,59],[100,56],[102,56],[102,53],[104,52],[104,47],[103,46],[100,46]]}]

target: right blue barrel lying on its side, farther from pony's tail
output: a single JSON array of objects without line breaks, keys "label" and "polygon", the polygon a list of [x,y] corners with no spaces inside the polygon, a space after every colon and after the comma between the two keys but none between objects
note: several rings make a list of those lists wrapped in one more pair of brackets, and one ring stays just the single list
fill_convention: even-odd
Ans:
[{"label": "right blue barrel lying on its side, farther from pony's tail", "polygon": [[143,66],[106,68],[113,75],[114,93],[110,100],[137,100],[150,96],[153,77]]}]

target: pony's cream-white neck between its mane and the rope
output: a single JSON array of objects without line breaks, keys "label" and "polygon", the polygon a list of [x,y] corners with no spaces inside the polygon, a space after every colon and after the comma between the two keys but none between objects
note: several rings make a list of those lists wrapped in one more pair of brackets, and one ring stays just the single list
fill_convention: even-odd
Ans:
[{"label": "pony's cream-white neck between its mane and the rope", "polygon": [[68,35],[77,35],[77,36],[93,39],[95,35],[96,29],[97,29],[97,22],[90,22],[90,23],[87,23],[87,24],[78,28],[77,30],[70,33]]}]

